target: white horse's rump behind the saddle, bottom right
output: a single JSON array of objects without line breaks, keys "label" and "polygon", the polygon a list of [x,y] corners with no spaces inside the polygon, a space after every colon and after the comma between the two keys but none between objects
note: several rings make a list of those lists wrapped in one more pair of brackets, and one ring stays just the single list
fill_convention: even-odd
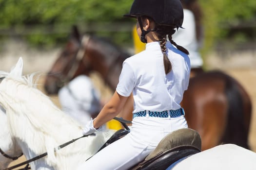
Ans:
[{"label": "white horse's rump behind the saddle, bottom right", "polygon": [[256,170],[256,153],[235,144],[219,145],[182,160],[172,170]]}]

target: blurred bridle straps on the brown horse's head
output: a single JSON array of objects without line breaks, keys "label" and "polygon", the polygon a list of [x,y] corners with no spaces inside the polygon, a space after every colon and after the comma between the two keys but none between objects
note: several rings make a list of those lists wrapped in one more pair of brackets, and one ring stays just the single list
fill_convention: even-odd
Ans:
[{"label": "blurred bridle straps on the brown horse's head", "polygon": [[[89,40],[90,40],[90,36],[83,35],[80,42],[79,50],[76,53],[73,62],[70,64],[71,68],[67,72],[67,75],[64,75],[61,71],[59,73],[54,73],[54,72],[48,73],[48,75],[51,75],[59,79],[59,82],[60,82],[58,85],[59,87],[62,87],[63,85],[68,83],[70,80],[72,80],[72,78],[74,77],[79,67],[79,64],[83,61],[83,58],[85,57],[86,45],[88,44]],[[82,62],[82,63],[85,64],[85,62]]]}]

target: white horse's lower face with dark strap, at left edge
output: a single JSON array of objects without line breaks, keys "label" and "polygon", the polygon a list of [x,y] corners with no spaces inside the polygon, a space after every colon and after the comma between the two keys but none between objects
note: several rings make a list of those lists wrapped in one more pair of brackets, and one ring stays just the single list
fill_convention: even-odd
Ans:
[{"label": "white horse's lower face with dark strap, at left edge", "polygon": [[0,170],[3,170],[8,167],[15,157],[18,158],[22,154],[22,151],[17,142],[11,137],[5,110],[1,106],[0,126],[0,149],[3,152],[0,153]]}]

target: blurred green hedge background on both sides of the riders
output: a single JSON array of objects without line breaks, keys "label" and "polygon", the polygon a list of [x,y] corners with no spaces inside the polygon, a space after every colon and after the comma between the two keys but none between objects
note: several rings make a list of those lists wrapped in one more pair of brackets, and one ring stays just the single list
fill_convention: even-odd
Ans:
[{"label": "blurred green hedge background on both sides of the riders", "polygon": [[[0,0],[0,37],[22,38],[35,47],[66,42],[72,25],[82,33],[132,46],[135,21],[122,17],[133,0]],[[199,0],[205,42],[202,53],[216,45],[256,40],[256,0]],[[225,46],[223,45],[225,44]]]}]

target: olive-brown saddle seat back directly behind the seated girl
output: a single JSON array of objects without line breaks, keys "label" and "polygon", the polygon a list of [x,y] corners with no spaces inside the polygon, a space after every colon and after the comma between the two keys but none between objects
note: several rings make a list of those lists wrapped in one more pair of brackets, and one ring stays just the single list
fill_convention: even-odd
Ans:
[{"label": "olive-brown saddle seat back directly behind the seated girl", "polygon": [[190,128],[173,131],[159,142],[157,148],[145,158],[145,161],[154,158],[159,153],[182,145],[191,145],[201,151],[201,137],[197,131]]}]

